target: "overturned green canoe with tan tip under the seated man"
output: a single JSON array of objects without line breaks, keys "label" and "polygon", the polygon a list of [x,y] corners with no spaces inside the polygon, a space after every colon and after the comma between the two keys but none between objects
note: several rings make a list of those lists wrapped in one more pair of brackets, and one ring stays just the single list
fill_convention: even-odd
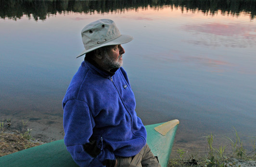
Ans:
[{"label": "overturned green canoe with tan tip under the seated man", "polygon": [[[167,167],[179,120],[145,126],[147,143],[158,156],[162,167]],[[66,150],[64,140],[46,143],[0,157],[0,167],[78,167]]]}]

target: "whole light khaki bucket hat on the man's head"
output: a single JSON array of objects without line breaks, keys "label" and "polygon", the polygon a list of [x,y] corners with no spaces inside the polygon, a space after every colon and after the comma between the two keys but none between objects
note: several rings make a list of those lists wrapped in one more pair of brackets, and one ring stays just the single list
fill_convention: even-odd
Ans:
[{"label": "whole light khaki bucket hat on the man's head", "polygon": [[110,19],[101,19],[86,25],[81,34],[85,49],[77,58],[97,48],[125,44],[133,39],[132,36],[121,35],[114,21]]}]

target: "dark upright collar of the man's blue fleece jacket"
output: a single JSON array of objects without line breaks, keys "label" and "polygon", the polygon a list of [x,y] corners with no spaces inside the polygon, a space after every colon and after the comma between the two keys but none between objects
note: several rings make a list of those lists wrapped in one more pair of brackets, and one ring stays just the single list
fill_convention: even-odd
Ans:
[{"label": "dark upright collar of the man's blue fleece jacket", "polygon": [[94,60],[85,57],[85,66],[89,67],[90,70],[102,75],[105,78],[112,77],[119,68],[111,69],[110,72],[102,69]]}]

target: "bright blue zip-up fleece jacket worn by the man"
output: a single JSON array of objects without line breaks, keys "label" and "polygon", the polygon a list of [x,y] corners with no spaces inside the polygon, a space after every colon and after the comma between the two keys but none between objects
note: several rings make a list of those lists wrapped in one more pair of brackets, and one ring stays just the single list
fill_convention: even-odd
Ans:
[{"label": "bright blue zip-up fleece jacket worn by the man", "polygon": [[64,143],[80,167],[113,167],[115,156],[138,154],[146,130],[135,112],[127,73],[82,62],[63,99]]}]

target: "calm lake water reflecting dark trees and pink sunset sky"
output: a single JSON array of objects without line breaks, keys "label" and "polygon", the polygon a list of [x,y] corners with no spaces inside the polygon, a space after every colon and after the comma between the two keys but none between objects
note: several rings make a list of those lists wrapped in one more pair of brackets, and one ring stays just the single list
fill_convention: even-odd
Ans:
[{"label": "calm lake water reflecting dark trees and pink sunset sky", "polygon": [[34,136],[61,139],[81,30],[108,18],[134,37],[123,67],[144,124],[179,119],[175,148],[190,151],[211,132],[234,127],[248,146],[256,136],[255,0],[3,1],[0,119],[29,120]]}]

